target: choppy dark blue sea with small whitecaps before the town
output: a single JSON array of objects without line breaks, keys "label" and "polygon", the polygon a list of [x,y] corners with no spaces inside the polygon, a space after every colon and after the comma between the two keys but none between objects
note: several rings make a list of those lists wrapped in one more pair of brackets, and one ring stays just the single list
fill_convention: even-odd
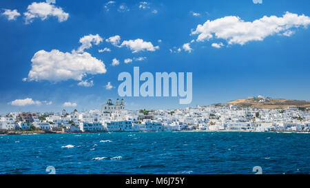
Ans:
[{"label": "choppy dark blue sea with small whitecaps before the town", "polygon": [[0,135],[0,174],[310,174],[310,134]]}]

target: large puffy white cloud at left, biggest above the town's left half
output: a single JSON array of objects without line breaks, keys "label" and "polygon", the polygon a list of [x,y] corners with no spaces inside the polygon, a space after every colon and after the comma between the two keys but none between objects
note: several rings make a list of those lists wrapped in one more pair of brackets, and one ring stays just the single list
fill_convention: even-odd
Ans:
[{"label": "large puffy white cloud at left, biggest above the town's left half", "polygon": [[81,81],[87,74],[103,74],[107,72],[103,61],[87,52],[72,53],[52,50],[40,50],[32,57],[32,68],[28,81]]}]

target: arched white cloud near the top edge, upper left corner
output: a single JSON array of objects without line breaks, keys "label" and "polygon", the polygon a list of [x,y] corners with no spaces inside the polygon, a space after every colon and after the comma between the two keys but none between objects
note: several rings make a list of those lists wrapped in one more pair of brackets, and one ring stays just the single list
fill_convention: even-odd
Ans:
[{"label": "arched white cloud near the top edge, upper left corner", "polygon": [[27,12],[23,13],[25,15],[26,23],[31,23],[33,19],[39,18],[45,20],[48,17],[57,17],[59,22],[66,21],[69,17],[69,14],[63,12],[62,8],[57,8],[56,6],[50,3],[32,3],[27,8]]}]

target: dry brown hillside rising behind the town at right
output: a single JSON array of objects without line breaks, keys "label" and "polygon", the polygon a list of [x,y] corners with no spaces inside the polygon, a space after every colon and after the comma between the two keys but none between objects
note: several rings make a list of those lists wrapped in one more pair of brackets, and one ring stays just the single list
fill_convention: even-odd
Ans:
[{"label": "dry brown hillside rising behind the town at right", "polygon": [[287,107],[295,106],[301,108],[310,107],[310,101],[290,100],[283,98],[240,98],[229,101],[229,104],[238,105],[238,107],[256,107],[265,109],[287,109]]}]

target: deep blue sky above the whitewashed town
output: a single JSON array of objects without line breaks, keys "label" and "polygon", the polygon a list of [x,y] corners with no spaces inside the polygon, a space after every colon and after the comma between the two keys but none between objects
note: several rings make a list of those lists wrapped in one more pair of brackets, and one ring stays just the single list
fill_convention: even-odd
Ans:
[{"label": "deep blue sky above the whitewashed town", "polygon": [[[193,72],[193,101],[189,105],[179,105],[178,98],[175,97],[125,97],[127,109],[174,109],[209,105],[258,94],[274,98],[310,100],[310,29],[307,27],[310,20],[309,1],[141,3],[144,1],[116,0],[107,4],[108,1],[101,0],[56,0],[55,4],[48,5],[56,10],[61,8],[62,12],[48,12],[46,17],[35,13],[36,6],[28,7],[34,2],[45,1],[0,1],[1,114],[16,111],[59,112],[63,108],[69,111],[100,109],[101,104],[108,98],[119,98],[117,87],[121,82],[117,81],[117,76],[120,72],[132,73],[134,66],[140,67],[141,72],[153,74]],[[20,15],[10,11],[4,14],[6,10],[17,10]],[[30,13],[28,19],[25,12]],[[9,17],[9,13],[13,17]],[[229,30],[230,26],[227,27],[222,22],[228,20],[229,16],[239,17],[240,20],[233,26],[242,32],[249,30],[247,25],[245,28],[241,27],[242,21],[252,23],[264,16],[275,16],[273,19],[278,19],[280,24],[285,14],[295,16],[285,19],[285,25],[276,25],[282,30],[275,29],[273,32],[270,30],[277,21],[268,22],[271,25],[267,27],[254,25],[254,28],[250,28],[252,32],[243,35],[235,34]],[[223,20],[216,21],[217,19]],[[223,26],[202,29],[205,33],[211,33],[212,37],[199,41],[201,32],[193,32],[199,24],[203,25],[207,20]],[[94,74],[86,71],[87,75],[83,76],[83,79],[79,80],[76,76],[63,79],[61,76],[53,76],[53,71],[56,70],[52,66],[50,70],[45,70],[46,74],[52,75],[48,78],[37,76],[36,80],[28,76],[33,68],[34,54],[40,50],[51,56],[51,50],[72,54],[72,50],[78,50],[81,46],[79,40],[90,34],[99,34],[102,41],[98,45],[93,41],[92,47],[86,48],[83,53],[90,54],[95,63],[102,61],[105,73],[99,73],[98,69],[93,67]],[[106,41],[116,35],[121,37],[118,46]],[[261,39],[256,40],[255,37]],[[152,43],[152,46],[142,46],[134,53],[130,46],[121,46],[123,41],[136,39]],[[192,40],[194,41],[191,43]],[[189,43],[192,50],[186,51],[183,48],[185,43]],[[215,48],[212,44],[220,48]],[[109,48],[111,52],[99,52],[104,48]],[[139,57],[145,59],[134,61]],[[117,59],[119,65],[113,66],[112,59]],[[133,61],[124,63],[124,59]],[[71,63],[75,65],[75,61]],[[76,67],[80,65],[76,64]],[[27,81],[23,81],[23,78],[27,78]],[[78,85],[81,81],[92,81],[93,85]],[[110,90],[105,87],[108,82],[113,86]],[[27,105],[11,103],[25,98],[31,98],[32,101],[28,101]],[[66,102],[76,103],[76,106],[64,106]]]}]

